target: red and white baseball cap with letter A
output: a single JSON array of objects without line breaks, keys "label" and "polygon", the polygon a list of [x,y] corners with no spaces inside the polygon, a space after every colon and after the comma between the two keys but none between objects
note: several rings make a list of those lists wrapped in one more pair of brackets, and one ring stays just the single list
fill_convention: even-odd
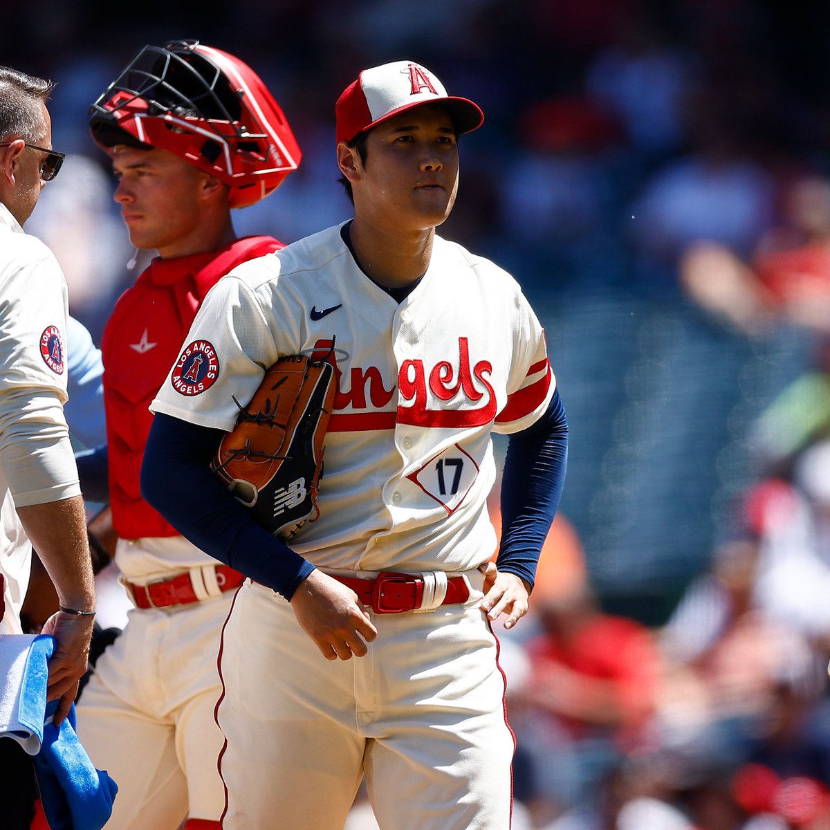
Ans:
[{"label": "red and white baseball cap with letter A", "polygon": [[413,61],[394,61],[364,69],[334,107],[336,140],[349,142],[359,133],[414,106],[440,103],[447,107],[458,134],[481,127],[484,114],[466,98],[447,95],[444,85]]}]

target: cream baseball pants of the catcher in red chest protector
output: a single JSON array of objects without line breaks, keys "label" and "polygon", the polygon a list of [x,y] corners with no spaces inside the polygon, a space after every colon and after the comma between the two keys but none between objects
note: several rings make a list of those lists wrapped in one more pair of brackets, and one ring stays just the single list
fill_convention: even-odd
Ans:
[{"label": "cream baseball pants of the catcher in red chest protector", "polygon": [[176,830],[218,821],[222,733],[219,636],[233,592],[190,605],[134,608],[76,706],[77,733],[118,784],[107,830]]}]

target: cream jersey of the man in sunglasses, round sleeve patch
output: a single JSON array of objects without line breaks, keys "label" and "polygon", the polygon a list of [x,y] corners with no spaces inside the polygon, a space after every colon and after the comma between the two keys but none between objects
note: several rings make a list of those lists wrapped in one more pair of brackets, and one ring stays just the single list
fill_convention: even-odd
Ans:
[{"label": "cream jersey of the man in sunglasses, round sleeve patch", "polygon": [[32,545],[18,507],[81,493],[63,414],[66,280],[55,256],[0,204],[0,633],[20,633]]}]

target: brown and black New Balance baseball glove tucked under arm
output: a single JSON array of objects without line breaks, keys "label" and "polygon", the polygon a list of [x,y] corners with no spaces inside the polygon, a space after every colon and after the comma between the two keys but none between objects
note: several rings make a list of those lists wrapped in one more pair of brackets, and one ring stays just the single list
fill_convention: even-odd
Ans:
[{"label": "brown and black New Balance baseball glove tucked under arm", "polygon": [[266,371],[211,468],[260,525],[289,540],[320,515],[323,439],[334,403],[334,369],[300,354]]}]

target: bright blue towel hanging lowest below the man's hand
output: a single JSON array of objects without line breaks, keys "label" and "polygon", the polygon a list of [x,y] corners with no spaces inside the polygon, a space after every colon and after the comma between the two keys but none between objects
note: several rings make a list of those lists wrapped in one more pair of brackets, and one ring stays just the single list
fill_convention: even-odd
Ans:
[{"label": "bright blue towel hanging lowest below the man's hand", "polygon": [[75,733],[75,704],[60,728],[52,721],[58,701],[46,704],[37,784],[51,830],[100,830],[110,820],[118,785],[95,769]]}]

